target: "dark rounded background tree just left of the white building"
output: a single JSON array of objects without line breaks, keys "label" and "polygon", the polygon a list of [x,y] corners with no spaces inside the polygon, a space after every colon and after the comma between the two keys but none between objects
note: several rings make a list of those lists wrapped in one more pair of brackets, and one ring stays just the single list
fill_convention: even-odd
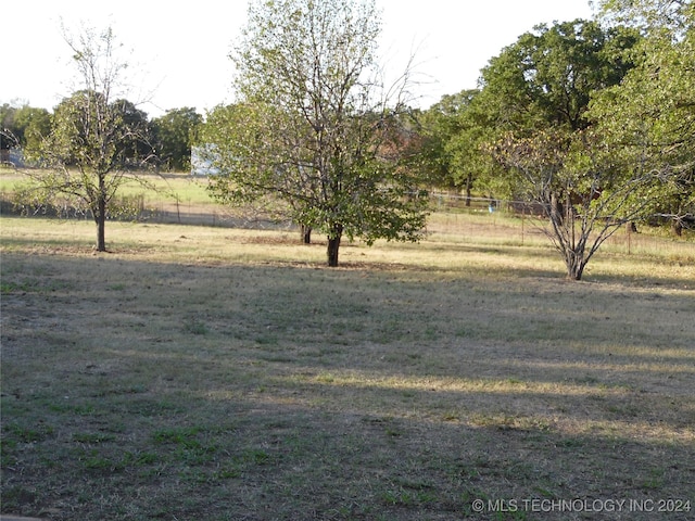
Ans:
[{"label": "dark rounded background tree just left of the white building", "polygon": [[203,117],[192,107],[172,109],[152,122],[156,154],[167,170],[189,170],[191,147],[198,141]]}]

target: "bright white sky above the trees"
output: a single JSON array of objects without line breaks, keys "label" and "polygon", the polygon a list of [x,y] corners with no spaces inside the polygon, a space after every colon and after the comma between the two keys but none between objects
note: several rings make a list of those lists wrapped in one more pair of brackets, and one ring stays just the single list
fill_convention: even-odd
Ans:
[{"label": "bright white sky above the trees", "polygon": [[[414,104],[422,109],[475,88],[488,61],[533,26],[593,16],[589,0],[375,1],[382,63],[403,72],[414,56]],[[90,26],[112,27],[128,64],[125,97],[150,117],[185,106],[205,114],[232,101],[228,55],[247,7],[247,0],[13,2],[1,26],[10,53],[0,73],[0,104],[52,111],[78,90],[80,76],[63,35]]]}]

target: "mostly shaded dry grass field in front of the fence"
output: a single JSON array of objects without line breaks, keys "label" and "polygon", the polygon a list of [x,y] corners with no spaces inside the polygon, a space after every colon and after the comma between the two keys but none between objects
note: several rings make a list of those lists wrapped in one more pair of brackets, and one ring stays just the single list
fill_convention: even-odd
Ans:
[{"label": "mostly shaded dry grass field in front of the fence", "polygon": [[2,217],[2,512],[693,519],[695,243],[616,238],[571,282],[521,225],[434,215],[329,269],[293,232],[110,223],[97,254]]}]

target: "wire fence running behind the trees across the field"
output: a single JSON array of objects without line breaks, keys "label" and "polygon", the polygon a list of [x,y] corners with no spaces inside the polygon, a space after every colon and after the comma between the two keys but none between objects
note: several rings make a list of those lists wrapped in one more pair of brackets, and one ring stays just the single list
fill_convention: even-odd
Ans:
[{"label": "wire fence running behind the trees across the field", "polygon": [[[63,218],[91,219],[88,212],[66,208],[17,208],[11,204],[7,193],[0,194],[0,214],[37,215]],[[525,201],[509,201],[493,198],[466,196],[459,193],[433,192],[430,194],[431,214],[425,230],[429,240],[445,240],[464,243],[486,243],[507,245],[551,244],[546,233],[548,223],[543,207]],[[277,218],[264,208],[231,208],[216,204],[212,200],[181,200],[172,198],[150,199],[131,196],[118,218],[157,224],[180,224],[229,228],[296,230],[290,220]],[[641,228],[644,229],[644,227]],[[664,237],[643,233],[630,225],[617,230],[605,243],[604,249],[624,252],[657,252],[665,247]],[[683,242],[683,241],[679,241]],[[685,239],[687,243],[687,238]],[[695,247],[692,239],[690,245]],[[668,246],[667,246],[668,247]]]}]

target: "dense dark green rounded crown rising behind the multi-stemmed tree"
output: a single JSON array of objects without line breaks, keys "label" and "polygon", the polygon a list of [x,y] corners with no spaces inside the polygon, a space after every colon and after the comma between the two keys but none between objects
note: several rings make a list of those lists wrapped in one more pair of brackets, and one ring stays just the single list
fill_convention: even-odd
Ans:
[{"label": "dense dark green rounded crown rising behind the multi-stemmed tree", "polygon": [[482,98],[503,130],[547,126],[579,130],[592,93],[617,85],[633,63],[635,30],[596,22],[540,25],[505,48],[482,71]]}]

